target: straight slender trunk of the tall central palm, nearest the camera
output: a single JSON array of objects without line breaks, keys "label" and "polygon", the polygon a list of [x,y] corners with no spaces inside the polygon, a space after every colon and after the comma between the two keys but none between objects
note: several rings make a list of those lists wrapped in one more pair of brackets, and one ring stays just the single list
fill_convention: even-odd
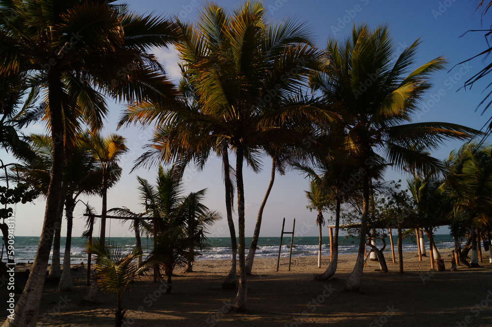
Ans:
[{"label": "straight slender trunk of the tall central palm, nearest the camera", "polygon": [[246,310],[247,284],[245,262],[245,194],[243,182],[244,150],[240,144],[236,149],[236,185],[238,192],[238,216],[239,216],[239,288],[234,299],[233,310],[241,312]]}]

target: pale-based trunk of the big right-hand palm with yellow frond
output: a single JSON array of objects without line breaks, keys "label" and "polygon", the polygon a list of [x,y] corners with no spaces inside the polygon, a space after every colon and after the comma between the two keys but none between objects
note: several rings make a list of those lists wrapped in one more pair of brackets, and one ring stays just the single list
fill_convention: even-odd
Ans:
[{"label": "pale-based trunk of the big right-hand palm with yellow frond", "polygon": [[359,291],[362,285],[362,273],[364,269],[364,251],[366,250],[366,234],[369,214],[369,176],[363,177],[363,211],[361,217],[361,233],[359,239],[359,252],[354,269],[345,283],[345,291]]}]

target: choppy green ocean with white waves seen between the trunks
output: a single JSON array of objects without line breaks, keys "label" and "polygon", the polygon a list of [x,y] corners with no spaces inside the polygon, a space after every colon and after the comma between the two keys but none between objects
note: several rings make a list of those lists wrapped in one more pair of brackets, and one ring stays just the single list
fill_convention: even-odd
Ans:
[{"label": "choppy green ocean with white waves seen between the trunks", "polygon": [[[112,242],[115,242],[123,248],[123,252],[129,252],[135,246],[135,238],[133,237],[109,237],[107,238]],[[426,249],[429,251],[429,241],[426,237]],[[395,243],[395,251],[397,251],[397,235],[393,235],[393,241]],[[449,234],[434,235],[434,241],[438,249],[452,248],[454,247],[453,237]],[[441,243],[442,241],[442,243]],[[37,245],[39,237],[34,236],[16,236],[15,237],[15,261],[16,262],[32,262],[36,255]],[[378,240],[378,244],[380,241]],[[3,244],[3,242],[2,242]],[[73,264],[84,262],[87,263],[87,253],[85,246],[87,239],[82,237],[72,237],[71,258],[70,261]],[[201,251],[201,256],[198,260],[212,260],[212,259],[230,259],[231,258],[231,243],[230,238],[226,237],[212,237],[209,239],[211,249]],[[246,251],[251,244],[251,237],[246,237]],[[256,250],[256,258],[276,258],[278,256],[278,246],[280,244],[280,237],[260,237],[258,240],[258,248]],[[338,254],[355,254],[357,253],[359,241],[357,238],[339,237],[338,240]],[[152,238],[142,238],[142,248],[145,255],[152,249]],[[380,245],[378,246],[380,247]],[[65,248],[65,237],[61,239],[60,257],[63,262],[63,253]],[[289,256],[290,237],[284,237],[282,242],[281,257]],[[386,256],[391,255],[391,245],[389,237],[386,239]],[[410,238],[403,239],[402,242],[403,251],[417,251],[417,244],[413,243]],[[328,236],[323,237],[322,255],[330,254],[330,238]],[[3,250],[3,260],[6,261],[5,249]],[[294,244],[292,246],[293,257],[308,257],[317,256],[318,253],[318,237],[294,237]]]}]

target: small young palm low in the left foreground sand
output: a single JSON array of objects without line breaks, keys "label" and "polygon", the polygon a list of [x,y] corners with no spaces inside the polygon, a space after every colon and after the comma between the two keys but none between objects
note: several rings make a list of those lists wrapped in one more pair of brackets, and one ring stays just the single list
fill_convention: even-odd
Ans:
[{"label": "small young palm low in the left foreground sand", "polygon": [[115,314],[115,327],[123,326],[126,310],[123,310],[123,296],[131,290],[131,284],[138,274],[143,271],[145,264],[137,267],[135,259],[142,257],[142,250],[135,248],[128,254],[123,254],[115,244],[95,242],[88,247],[89,253],[96,256],[96,274],[94,278],[104,292],[116,294],[118,308]]}]

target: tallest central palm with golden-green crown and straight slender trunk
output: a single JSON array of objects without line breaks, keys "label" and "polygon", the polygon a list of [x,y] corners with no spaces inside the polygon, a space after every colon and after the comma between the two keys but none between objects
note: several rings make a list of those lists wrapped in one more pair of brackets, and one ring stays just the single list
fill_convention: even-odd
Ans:
[{"label": "tallest central palm with golden-green crown and straight slender trunk", "polygon": [[276,140],[295,143],[304,138],[292,129],[278,128],[285,121],[306,121],[307,116],[334,118],[312,107],[271,112],[272,99],[297,92],[308,68],[319,66],[321,53],[312,46],[310,28],[293,19],[268,24],[266,8],[259,1],[246,1],[231,13],[209,3],[196,27],[180,21],[178,26],[181,38],[177,49],[187,80],[196,90],[200,111],[149,105],[147,108],[156,108],[152,114],[130,108],[128,115],[135,120],[179,122],[188,131],[182,135],[186,142],[213,134],[216,139],[226,139],[234,150],[240,281],[233,310],[242,311],[247,290],[243,163],[245,158],[251,163],[264,144]]}]

